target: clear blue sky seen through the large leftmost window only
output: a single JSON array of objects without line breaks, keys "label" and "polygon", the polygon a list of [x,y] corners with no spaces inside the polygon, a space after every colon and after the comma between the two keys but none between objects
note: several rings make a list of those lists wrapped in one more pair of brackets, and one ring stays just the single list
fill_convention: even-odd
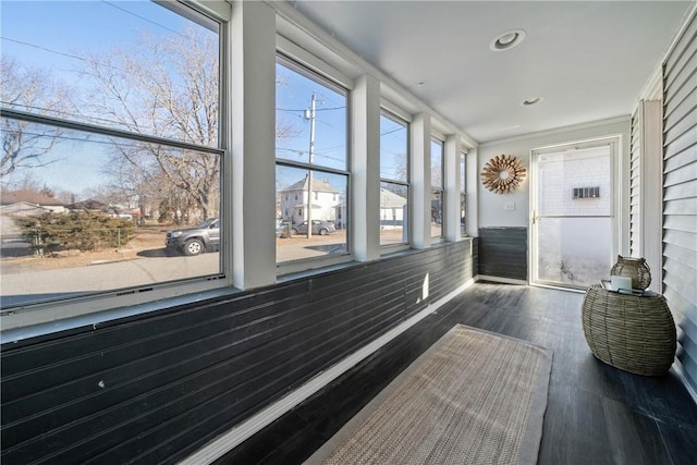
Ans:
[{"label": "clear blue sky seen through the large leftmost window only", "polygon": [[[70,85],[80,85],[77,70],[86,53],[106,53],[133,44],[143,30],[171,36],[187,23],[150,1],[3,0],[0,8],[2,54]],[[105,183],[105,147],[96,140],[63,142],[50,155],[53,162],[33,168],[30,176],[54,192],[69,191],[82,198],[83,192],[98,189]],[[19,171],[13,179],[25,175],[26,171]]]}]

